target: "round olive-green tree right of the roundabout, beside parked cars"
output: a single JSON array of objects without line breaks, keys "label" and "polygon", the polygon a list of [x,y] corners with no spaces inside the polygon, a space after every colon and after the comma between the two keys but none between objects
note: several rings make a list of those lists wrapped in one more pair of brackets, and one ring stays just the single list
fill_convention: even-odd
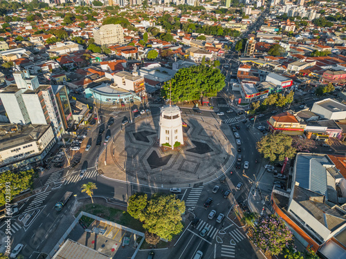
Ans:
[{"label": "round olive-green tree right of the roundabout, beside parked cars", "polygon": [[296,150],[292,145],[292,138],[283,133],[268,134],[257,142],[257,151],[270,162],[282,161],[285,157],[294,157]]}]

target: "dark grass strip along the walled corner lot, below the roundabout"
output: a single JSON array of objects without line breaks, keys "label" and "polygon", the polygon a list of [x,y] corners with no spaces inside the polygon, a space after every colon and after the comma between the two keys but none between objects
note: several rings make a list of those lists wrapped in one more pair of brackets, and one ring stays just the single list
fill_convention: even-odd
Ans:
[{"label": "dark grass strip along the walled corner lot, below the roundabout", "polygon": [[[96,215],[100,218],[104,218],[105,220],[116,222],[122,226],[129,227],[130,229],[134,229],[136,231],[145,232],[142,222],[135,220],[131,217],[131,215],[129,215],[129,213],[127,213],[127,211],[122,211],[121,209],[104,207],[100,204],[85,204],[80,207],[78,212],[75,213],[75,216],[77,217],[81,211]],[[86,223],[87,221],[84,222]]]}]

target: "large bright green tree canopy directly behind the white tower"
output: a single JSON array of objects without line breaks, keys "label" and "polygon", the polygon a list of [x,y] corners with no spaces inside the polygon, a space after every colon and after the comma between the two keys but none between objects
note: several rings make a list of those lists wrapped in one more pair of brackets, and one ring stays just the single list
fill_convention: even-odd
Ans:
[{"label": "large bright green tree canopy directly behind the white tower", "polygon": [[161,96],[170,97],[170,83],[172,83],[172,101],[183,102],[216,96],[225,84],[225,76],[219,68],[208,66],[191,66],[181,68],[174,77],[165,82],[161,89]]}]

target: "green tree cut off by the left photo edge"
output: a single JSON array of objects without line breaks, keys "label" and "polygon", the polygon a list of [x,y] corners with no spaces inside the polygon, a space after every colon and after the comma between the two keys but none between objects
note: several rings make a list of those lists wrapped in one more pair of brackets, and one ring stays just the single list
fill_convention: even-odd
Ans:
[{"label": "green tree cut off by the left photo edge", "polygon": [[[15,198],[21,191],[30,189],[33,186],[33,179],[35,172],[33,169],[28,171],[20,171],[19,173],[12,173],[11,171],[6,171],[0,174],[0,206],[3,204],[10,203],[6,201],[6,196],[10,197],[10,200]],[[10,186],[6,184],[10,182]],[[6,188],[8,186],[8,188]],[[10,192],[10,195],[6,193]]]}]

